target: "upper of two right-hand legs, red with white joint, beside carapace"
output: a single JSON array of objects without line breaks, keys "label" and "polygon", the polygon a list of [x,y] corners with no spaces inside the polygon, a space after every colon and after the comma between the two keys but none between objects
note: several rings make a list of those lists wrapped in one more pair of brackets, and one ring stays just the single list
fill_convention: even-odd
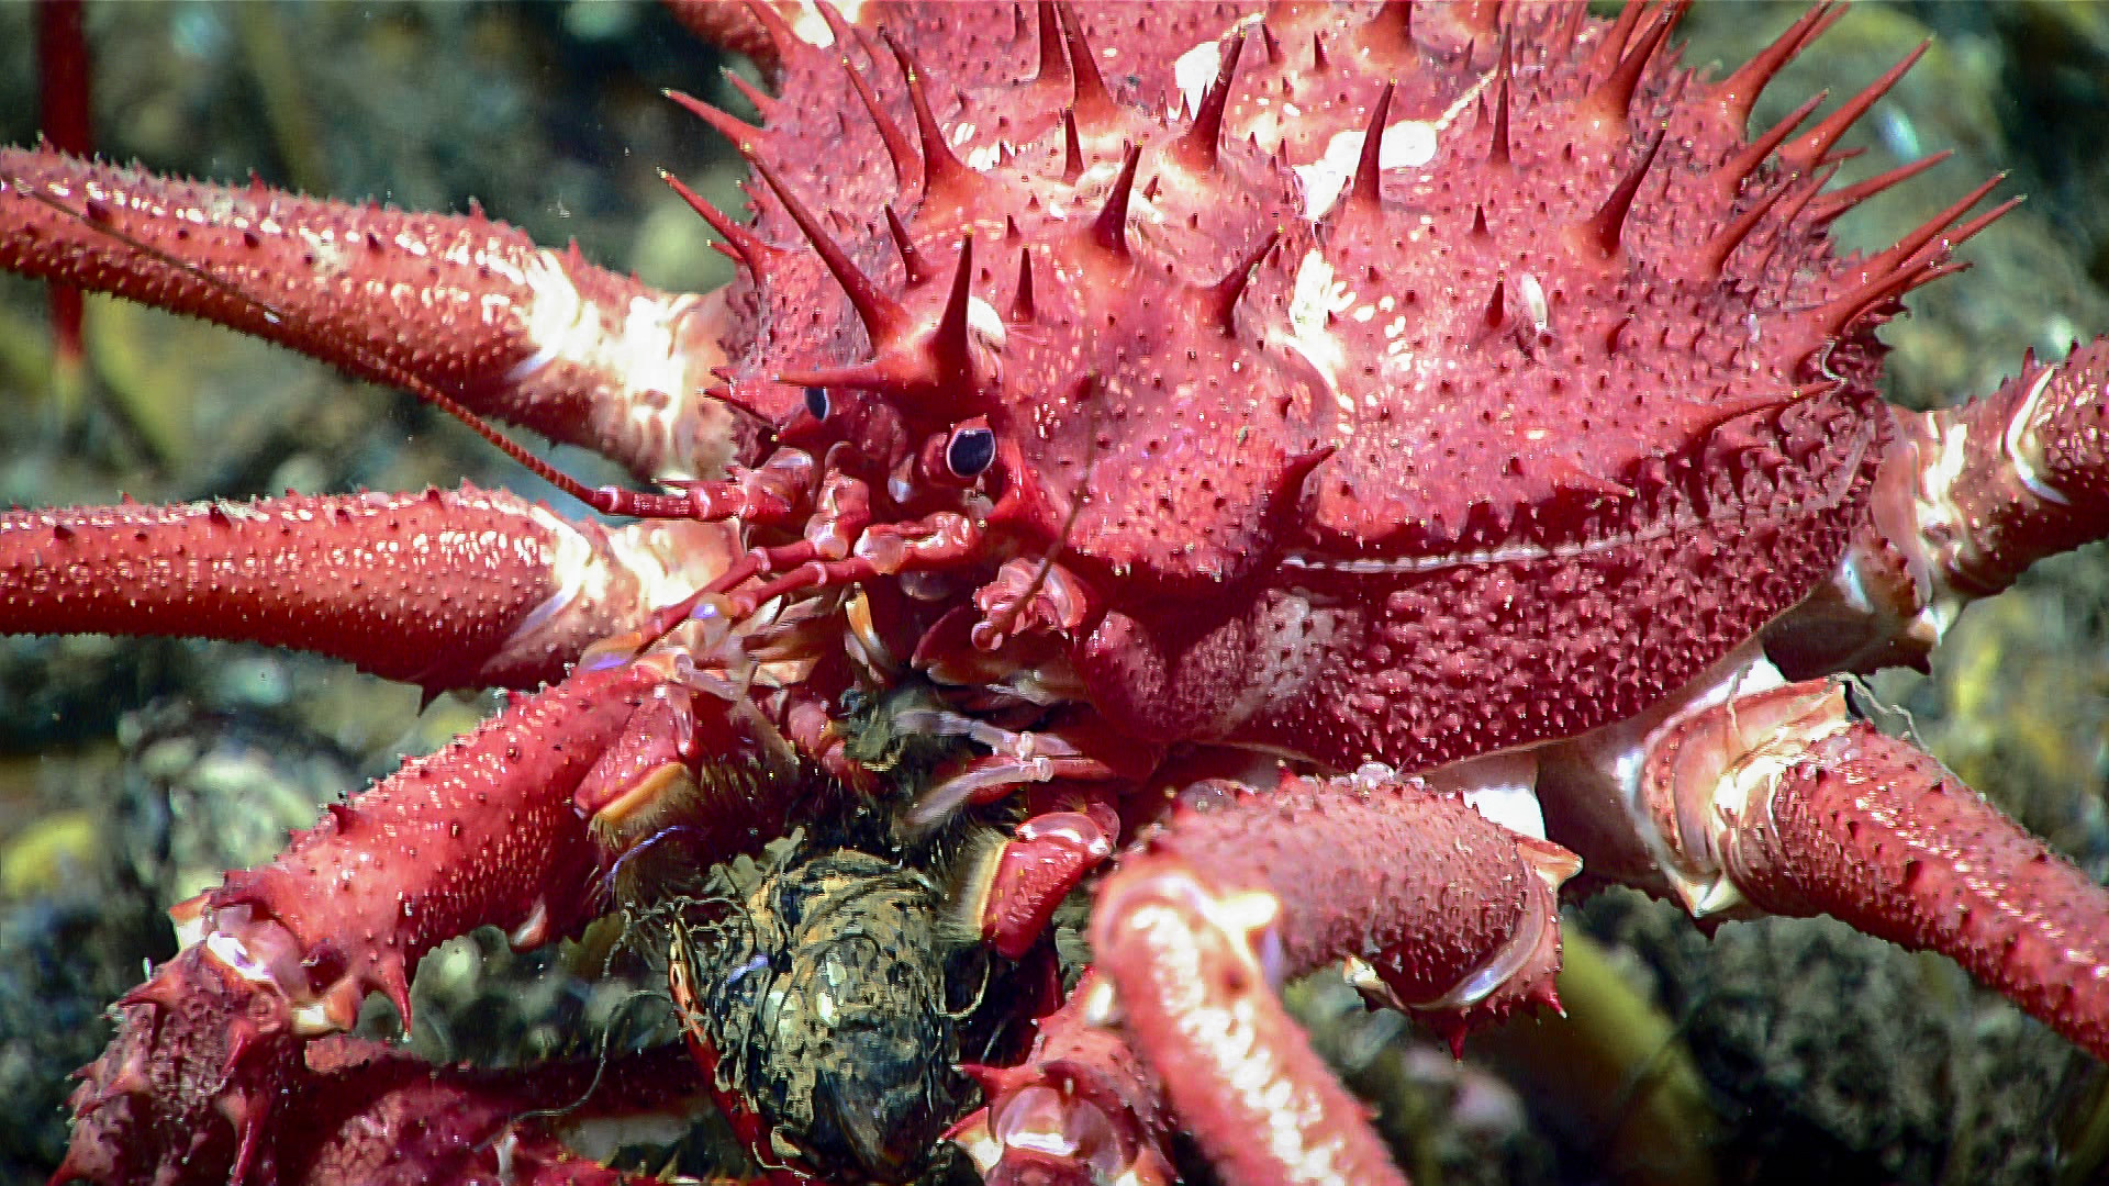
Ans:
[{"label": "upper of two right-hand legs, red with white joint, beside carapace", "polygon": [[1797,675],[1923,667],[1961,608],[2109,536],[2109,338],[1961,407],[1890,409],[1896,441],[1839,576],[1767,633]]}]

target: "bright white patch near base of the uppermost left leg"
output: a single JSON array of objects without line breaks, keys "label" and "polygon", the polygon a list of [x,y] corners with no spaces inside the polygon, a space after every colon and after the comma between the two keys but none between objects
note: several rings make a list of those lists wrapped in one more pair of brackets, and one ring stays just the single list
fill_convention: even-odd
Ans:
[{"label": "bright white patch near base of the uppermost left leg", "polygon": [[694,445],[685,426],[696,420],[696,393],[675,329],[696,310],[700,295],[633,295],[620,310],[610,310],[580,295],[553,251],[536,251],[525,268],[502,266],[498,251],[475,253],[464,264],[510,272],[508,279],[529,293],[527,308],[517,308],[504,293],[483,300],[485,323],[512,314],[534,346],[534,355],[506,371],[508,382],[523,384],[550,363],[572,363],[603,382],[620,380],[612,395],[622,420],[605,424],[605,433],[639,441],[631,452],[660,458],[664,477],[694,477],[683,466]]}]

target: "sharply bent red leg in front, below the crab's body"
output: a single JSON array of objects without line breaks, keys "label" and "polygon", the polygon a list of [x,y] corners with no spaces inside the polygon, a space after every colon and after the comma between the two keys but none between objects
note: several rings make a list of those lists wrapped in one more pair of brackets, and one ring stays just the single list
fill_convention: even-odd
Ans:
[{"label": "sharply bent red leg in front, below the crab's body", "polygon": [[1384,768],[1179,806],[1099,888],[1090,943],[1183,1127],[1230,1184],[1405,1182],[1274,990],[1348,958],[1453,1028],[1556,1005],[1565,848]]}]

